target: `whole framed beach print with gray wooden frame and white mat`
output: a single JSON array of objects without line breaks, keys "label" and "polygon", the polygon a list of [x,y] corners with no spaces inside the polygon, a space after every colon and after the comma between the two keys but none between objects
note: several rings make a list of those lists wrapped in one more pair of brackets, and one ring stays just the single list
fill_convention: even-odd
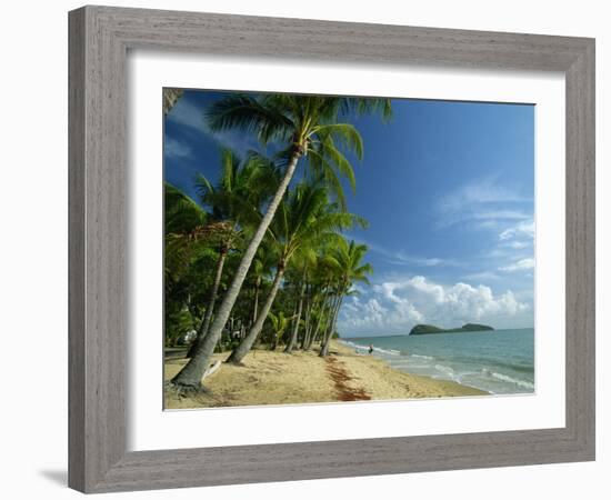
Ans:
[{"label": "whole framed beach print with gray wooden frame and white mat", "polygon": [[593,460],[593,40],[69,18],[72,488]]}]

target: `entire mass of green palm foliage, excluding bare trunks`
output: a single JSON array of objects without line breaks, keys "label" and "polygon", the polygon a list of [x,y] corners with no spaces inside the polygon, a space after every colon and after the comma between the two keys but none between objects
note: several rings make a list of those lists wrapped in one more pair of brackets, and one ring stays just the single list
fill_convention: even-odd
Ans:
[{"label": "entire mass of green palm foliage, excluding bare trunks", "polygon": [[[167,342],[197,329],[207,307],[213,307],[208,297],[220,251],[227,252],[218,293],[223,296],[296,154],[304,167],[300,182],[290,184],[276,212],[233,304],[232,320],[246,327],[254,321],[254,304],[258,301],[261,308],[278,266],[286,267],[284,281],[261,334],[270,347],[290,336],[299,300],[304,301],[299,322],[303,338],[307,329],[312,332],[315,324],[331,323],[334,298],[353,293],[355,282],[369,282],[372,269],[363,263],[367,247],[342,236],[350,228],[367,227],[367,221],[348,212],[342,188],[344,179],[355,190],[349,158],[364,154],[362,138],[348,119],[364,113],[390,118],[390,101],[231,93],[208,108],[204,119],[211,130],[237,128],[262,144],[273,142],[272,149],[280,144],[280,151],[270,160],[257,151],[239,158],[221,150],[220,179],[212,183],[198,176],[197,200],[166,184]],[[330,327],[337,338],[334,326]],[[237,342],[223,331],[217,350],[233,349]]]}]

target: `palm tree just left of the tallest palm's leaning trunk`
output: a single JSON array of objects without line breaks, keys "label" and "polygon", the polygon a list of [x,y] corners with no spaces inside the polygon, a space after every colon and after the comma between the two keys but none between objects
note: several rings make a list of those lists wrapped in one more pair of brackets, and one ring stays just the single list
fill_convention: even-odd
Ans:
[{"label": "palm tree just left of the tallest palm's leaning trunk", "polygon": [[213,239],[211,238],[217,244],[218,258],[206,314],[197,339],[187,353],[188,358],[196,353],[198,343],[208,334],[227,254],[241,228],[257,217],[259,206],[269,198],[269,192],[274,187],[271,182],[273,173],[269,161],[260,156],[251,154],[242,162],[231,150],[221,149],[221,177],[218,184],[212,186],[202,174],[197,178],[196,187],[201,202],[210,207],[209,219],[218,228],[212,234]]}]

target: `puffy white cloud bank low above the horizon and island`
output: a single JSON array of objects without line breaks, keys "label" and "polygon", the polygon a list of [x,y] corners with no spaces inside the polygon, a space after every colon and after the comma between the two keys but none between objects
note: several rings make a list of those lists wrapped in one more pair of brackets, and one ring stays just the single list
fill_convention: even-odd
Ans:
[{"label": "puffy white cloud bank low above the horizon and island", "polygon": [[[340,316],[344,334],[408,333],[417,323],[455,327],[467,322],[508,326],[530,304],[508,290],[494,294],[483,284],[440,284],[423,276],[374,284],[368,300],[353,298]],[[522,318],[527,322],[529,318]]]}]

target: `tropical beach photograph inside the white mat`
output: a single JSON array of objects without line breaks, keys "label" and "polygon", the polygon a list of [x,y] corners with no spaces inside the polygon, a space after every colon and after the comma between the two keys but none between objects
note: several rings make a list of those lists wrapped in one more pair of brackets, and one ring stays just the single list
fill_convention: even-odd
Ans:
[{"label": "tropical beach photograph inside the white mat", "polygon": [[161,97],[164,410],[535,392],[534,104]]}]

